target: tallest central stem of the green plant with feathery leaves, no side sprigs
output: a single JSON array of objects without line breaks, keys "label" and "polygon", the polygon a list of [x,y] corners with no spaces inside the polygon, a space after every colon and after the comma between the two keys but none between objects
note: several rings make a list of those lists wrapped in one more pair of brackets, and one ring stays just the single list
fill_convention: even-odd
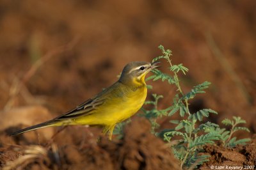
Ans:
[{"label": "tallest central stem of the green plant with feathery leaves, no side sprigs", "polygon": [[[157,81],[161,79],[162,81],[168,81],[169,84],[174,84],[177,87],[177,94],[173,98],[173,105],[164,109],[169,111],[168,116],[172,116],[175,112],[179,111],[179,114],[183,120],[175,120],[172,123],[177,124],[173,129],[164,130],[158,135],[162,136],[165,141],[170,143],[171,139],[177,135],[179,137],[178,143],[172,145],[173,152],[177,158],[180,160],[180,167],[190,167],[193,164],[202,164],[207,160],[206,155],[198,155],[202,150],[204,144],[213,144],[214,140],[220,139],[220,134],[217,132],[202,132],[202,130],[196,128],[196,121],[202,121],[203,117],[208,117],[209,113],[217,114],[217,112],[211,109],[202,109],[194,114],[189,111],[189,100],[195,97],[198,93],[205,93],[204,89],[208,88],[211,84],[210,82],[203,82],[197,86],[194,86],[189,93],[184,93],[180,86],[180,80],[178,73],[182,72],[186,75],[188,68],[182,64],[173,65],[170,57],[172,56],[172,51],[165,50],[162,45],[159,46],[162,51],[163,56],[154,58],[153,61],[158,59],[166,59],[170,64],[170,72],[173,75],[167,73],[162,73],[160,70],[154,70],[154,75],[148,77],[147,80],[152,79]],[[185,115],[188,114],[185,119]]]}]

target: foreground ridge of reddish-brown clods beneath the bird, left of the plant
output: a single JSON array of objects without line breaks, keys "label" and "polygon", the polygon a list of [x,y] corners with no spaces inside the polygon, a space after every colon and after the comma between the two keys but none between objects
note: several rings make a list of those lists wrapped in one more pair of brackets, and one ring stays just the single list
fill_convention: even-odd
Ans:
[{"label": "foreground ridge of reddish-brown clods beneath the bird, left of the plant", "polygon": [[[65,132],[65,135],[72,135]],[[63,135],[57,135],[62,138]],[[27,141],[24,138],[20,140]],[[101,137],[63,145],[54,140],[48,146],[2,143],[0,167],[3,169],[179,169],[178,161],[161,139],[150,134],[145,119],[132,121],[124,138],[109,141]],[[58,143],[60,141],[60,143]],[[74,142],[74,141],[73,141]],[[75,142],[74,142],[75,143]]]}]

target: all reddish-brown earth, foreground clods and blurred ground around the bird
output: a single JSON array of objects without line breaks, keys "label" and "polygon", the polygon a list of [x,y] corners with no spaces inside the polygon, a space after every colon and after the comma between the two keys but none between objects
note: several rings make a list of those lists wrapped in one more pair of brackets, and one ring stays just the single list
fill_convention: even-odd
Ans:
[{"label": "all reddish-brown earth, foreground clods and blurred ground around the bird", "polygon": [[[126,63],[159,56],[159,44],[172,49],[174,63],[188,66],[188,75],[182,77],[184,92],[212,82],[206,94],[193,100],[192,111],[218,111],[209,118],[214,123],[241,116],[251,133],[237,137],[252,137],[255,8],[256,2],[249,0],[1,1],[0,167],[10,167],[13,160],[24,169],[177,168],[163,141],[150,135],[147,121],[138,123],[136,116],[124,139],[114,137],[112,142],[104,137],[98,141],[100,128],[79,126],[65,128],[53,140],[59,128],[6,136],[76,107],[115,82]],[[161,63],[164,72],[167,64]],[[163,94],[159,108],[167,107],[175,88],[166,82],[148,83],[154,86],[148,99],[150,93]],[[161,129],[170,128],[169,120],[178,117],[161,119]],[[211,155],[205,169],[255,165],[255,140],[234,149],[205,146],[205,152]]]}]

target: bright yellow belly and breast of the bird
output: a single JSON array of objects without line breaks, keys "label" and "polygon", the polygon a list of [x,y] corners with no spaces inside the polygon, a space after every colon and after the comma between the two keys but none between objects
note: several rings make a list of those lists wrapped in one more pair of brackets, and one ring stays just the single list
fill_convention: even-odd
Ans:
[{"label": "bright yellow belly and breast of the bird", "polygon": [[74,123],[81,125],[115,125],[134,115],[143,105],[147,97],[147,88],[125,94],[122,98],[111,98],[99,109],[87,116],[77,118]]}]

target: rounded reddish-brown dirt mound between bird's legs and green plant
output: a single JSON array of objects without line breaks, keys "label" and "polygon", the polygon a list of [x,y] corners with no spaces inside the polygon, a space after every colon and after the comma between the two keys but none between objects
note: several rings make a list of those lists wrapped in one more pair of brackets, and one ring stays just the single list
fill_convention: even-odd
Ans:
[{"label": "rounded reddish-brown dirt mound between bird's legs and green plant", "polygon": [[171,150],[150,132],[143,119],[128,125],[124,139],[114,144],[102,141],[100,146],[111,153],[115,169],[179,169]]}]

